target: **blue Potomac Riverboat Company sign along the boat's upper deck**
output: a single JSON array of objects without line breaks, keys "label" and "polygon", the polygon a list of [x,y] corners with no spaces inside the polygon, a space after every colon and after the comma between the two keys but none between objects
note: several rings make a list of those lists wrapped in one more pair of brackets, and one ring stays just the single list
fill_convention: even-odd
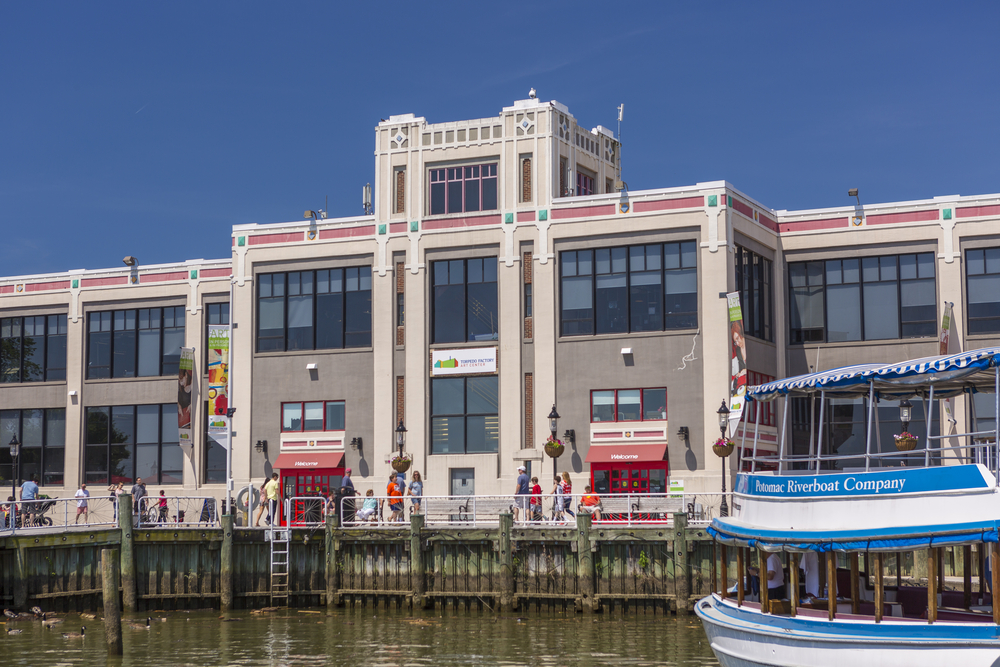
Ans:
[{"label": "blue Potomac Riverboat Company sign along the boat's upper deck", "polygon": [[736,493],[761,498],[805,500],[986,489],[991,486],[978,466],[961,465],[794,477],[741,474],[736,480]]}]

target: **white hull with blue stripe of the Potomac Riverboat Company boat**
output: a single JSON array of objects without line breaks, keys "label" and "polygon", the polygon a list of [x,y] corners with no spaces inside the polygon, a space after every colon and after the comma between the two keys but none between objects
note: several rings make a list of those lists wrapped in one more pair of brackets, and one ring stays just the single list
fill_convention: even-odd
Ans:
[{"label": "white hull with blue stripe of the Potomac Riverboat Company boat", "polygon": [[718,596],[695,611],[724,667],[1000,667],[993,624],[771,616]]}]

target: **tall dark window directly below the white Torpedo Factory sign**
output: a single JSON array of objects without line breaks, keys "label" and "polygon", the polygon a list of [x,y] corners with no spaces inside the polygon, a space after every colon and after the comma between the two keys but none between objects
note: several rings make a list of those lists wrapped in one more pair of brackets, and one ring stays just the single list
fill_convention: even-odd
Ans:
[{"label": "tall dark window directly below the white Torpedo Factory sign", "polygon": [[431,454],[496,452],[500,441],[495,375],[431,380]]}]

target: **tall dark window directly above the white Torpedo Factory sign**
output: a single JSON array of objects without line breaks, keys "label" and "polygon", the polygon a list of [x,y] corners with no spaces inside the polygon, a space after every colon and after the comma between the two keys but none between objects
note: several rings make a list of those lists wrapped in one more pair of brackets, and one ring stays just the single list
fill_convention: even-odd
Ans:
[{"label": "tall dark window directly above the white Torpedo Factory sign", "polygon": [[497,340],[497,258],[433,262],[435,343]]}]

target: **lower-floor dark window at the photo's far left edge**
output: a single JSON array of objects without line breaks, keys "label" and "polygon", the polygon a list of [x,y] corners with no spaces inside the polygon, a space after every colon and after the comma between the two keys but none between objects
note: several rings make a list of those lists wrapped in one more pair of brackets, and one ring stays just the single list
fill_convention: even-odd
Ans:
[{"label": "lower-floor dark window at the photo's far left edge", "polygon": [[[0,439],[6,445],[15,435],[21,442],[18,477],[38,475],[42,485],[63,484],[66,410],[0,410]],[[15,474],[10,447],[0,447],[0,484],[9,485]]]}]

